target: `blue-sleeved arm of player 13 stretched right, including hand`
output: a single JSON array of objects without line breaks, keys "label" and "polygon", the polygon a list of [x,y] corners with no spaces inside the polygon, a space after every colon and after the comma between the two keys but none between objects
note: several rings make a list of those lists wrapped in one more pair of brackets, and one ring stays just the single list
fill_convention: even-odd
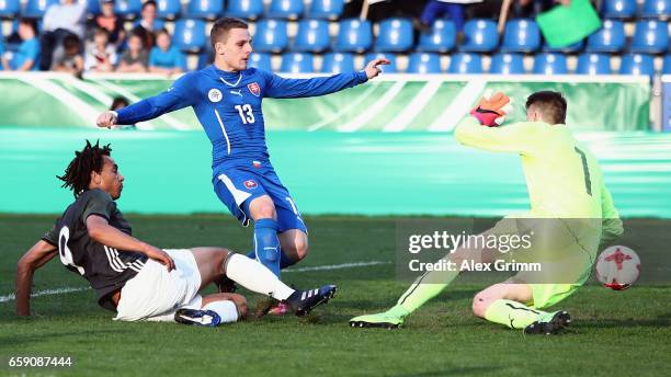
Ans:
[{"label": "blue-sleeved arm of player 13 stretched right, including hand", "polygon": [[382,72],[380,65],[387,65],[387,59],[375,59],[359,72],[338,73],[311,79],[285,79],[275,73],[261,71],[265,78],[264,96],[274,99],[297,99],[319,96],[352,88],[375,78]]}]

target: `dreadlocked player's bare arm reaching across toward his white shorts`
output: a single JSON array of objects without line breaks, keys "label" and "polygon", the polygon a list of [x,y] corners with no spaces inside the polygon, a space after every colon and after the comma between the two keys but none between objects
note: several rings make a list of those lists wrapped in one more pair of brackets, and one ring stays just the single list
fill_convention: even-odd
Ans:
[{"label": "dreadlocked player's bare arm reaching across toward his white shorts", "polygon": [[143,253],[164,265],[168,271],[174,270],[174,261],[168,253],[114,228],[104,217],[87,217],[87,230],[89,236],[99,243],[114,249]]}]

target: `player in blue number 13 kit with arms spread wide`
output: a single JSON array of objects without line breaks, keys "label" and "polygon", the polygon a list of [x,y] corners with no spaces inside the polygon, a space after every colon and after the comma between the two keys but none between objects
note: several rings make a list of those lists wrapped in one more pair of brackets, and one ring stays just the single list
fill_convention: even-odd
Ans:
[{"label": "player in blue number 13 kit with arms spread wide", "polygon": [[224,18],[211,32],[214,64],[178,79],[168,91],[118,112],[105,112],[100,127],[135,124],[192,106],[213,145],[213,184],[219,199],[243,224],[254,222],[255,258],[280,276],[280,270],[304,259],[307,227],[289,192],[275,174],[265,145],[263,98],[325,95],[366,82],[387,59],[369,61],[363,71],[312,79],[285,79],[248,68],[251,35],[244,21]]}]

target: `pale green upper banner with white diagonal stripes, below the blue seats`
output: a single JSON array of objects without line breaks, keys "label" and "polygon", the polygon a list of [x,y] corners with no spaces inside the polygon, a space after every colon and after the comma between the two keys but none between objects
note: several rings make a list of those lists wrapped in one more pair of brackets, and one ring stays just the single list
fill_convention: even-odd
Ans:
[{"label": "pale green upper banner with white diagonal stripes, below the blue seats", "polygon": [[[554,81],[550,81],[554,80]],[[115,96],[130,102],[170,87],[168,79],[120,75],[0,75],[0,127],[94,127]],[[516,102],[510,121],[524,118],[524,102],[538,90],[561,91],[567,124],[585,130],[649,128],[650,84],[636,77],[507,77],[385,75],[320,98],[263,101],[269,130],[448,132],[482,93],[503,91]],[[201,129],[191,108],[138,124],[140,129]]]}]

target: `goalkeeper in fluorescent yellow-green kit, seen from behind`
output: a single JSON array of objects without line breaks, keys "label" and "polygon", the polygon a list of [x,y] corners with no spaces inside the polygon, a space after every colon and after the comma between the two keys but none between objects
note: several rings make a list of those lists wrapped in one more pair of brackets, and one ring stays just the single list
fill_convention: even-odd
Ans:
[{"label": "goalkeeper in fluorescent yellow-green kit, seen from behind", "polygon": [[[454,132],[456,140],[465,146],[521,156],[531,209],[503,218],[484,235],[519,232],[524,224],[536,230],[549,225],[551,236],[537,248],[544,250],[544,255],[565,259],[558,258],[560,261],[555,263],[560,266],[561,277],[543,281],[538,275],[520,272],[479,292],[473,299],[473,313],[512,329],[524,329],[527,334],[551,334],[568,325],[571,318],[567,311],[545,309],[584,284],[600,245],[622,235],[623,227],[596,159],[565,124],[567,104],[561,93],[533,93],[526,101],[526,122],[499,127],[509,108],[510,100],[503,93],[482,98],[471,116],[463,119]],[[486,262],[491,261],[494,251],[457,249],[445,259],[456,265],[463,261]],[[416,279],[391,309],[352,318],[350,324],[397,328],[458,274],[458,269],[429,271]]]}]

